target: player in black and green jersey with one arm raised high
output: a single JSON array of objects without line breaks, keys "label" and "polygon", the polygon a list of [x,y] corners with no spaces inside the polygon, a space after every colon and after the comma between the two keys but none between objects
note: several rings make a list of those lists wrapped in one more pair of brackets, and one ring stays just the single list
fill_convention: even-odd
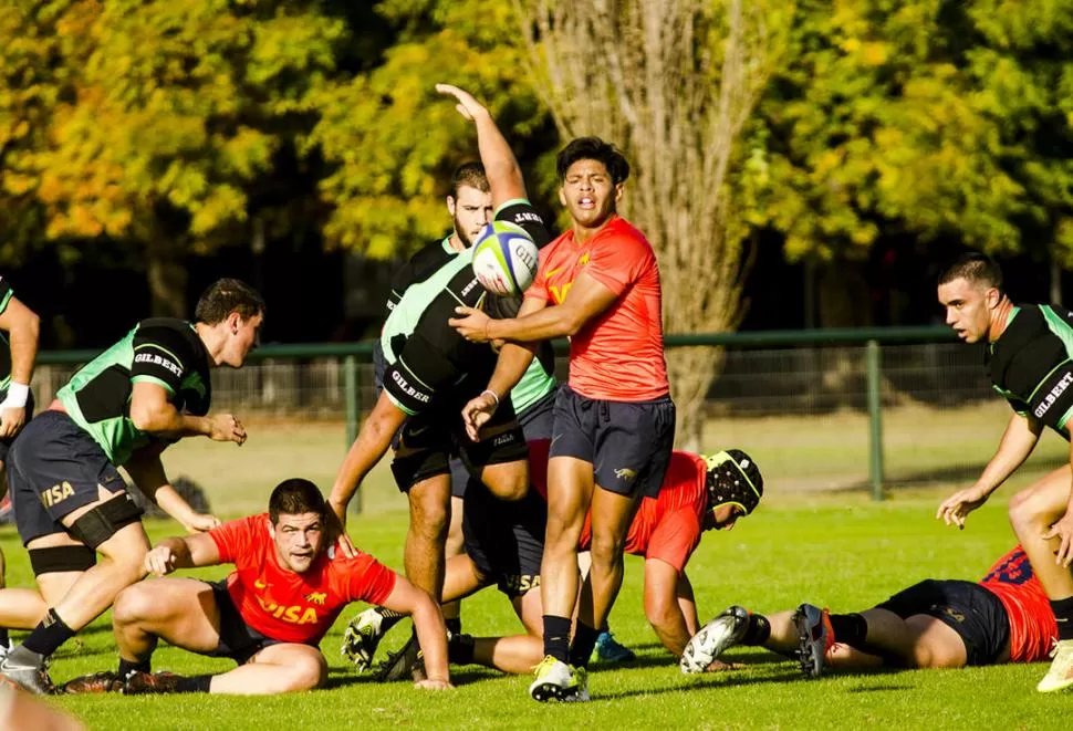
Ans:
[{"label": "player in black and green jersey with one arm raised high", "polygon": [[[524,200],[525,187],[513,153],[483,107],[477,142],[496,218],[550,240],[540,215]],[[481,305],[486,292],[472,271],[472,249],[450,257],[425,281],[413,282],[396,304],[381,337],[387,369],[384,391],[354,441],[332,487],[337,529],[346,505],[402,428],[392,472],[410,507],[404,563],[406,576],[431,596],[444,584],[444,550],[450,510],[449,458],[460,452],[470,471],[498,499],[520,500],[529,490],[525,439],[509,399],[488,421],[479,441],[465,438],[462,406],[479,395],[496,367],[496,354],[472,344],[447,323],[458,303]],[[506,391],[504,391],[506,393]],[[345,533],[344,551],[352,551]]]}]

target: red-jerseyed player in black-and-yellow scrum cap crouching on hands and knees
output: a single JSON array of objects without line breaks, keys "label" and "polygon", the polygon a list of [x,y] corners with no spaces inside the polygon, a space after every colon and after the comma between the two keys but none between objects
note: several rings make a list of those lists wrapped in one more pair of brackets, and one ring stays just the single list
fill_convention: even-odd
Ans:
[{"label": "red-jerseyed player in black-and-yellow scrum cap crouching on hands and knees", "polygon": [[[549,441],[530,442],[535,490],[521,502],[497,501],[468,489],[462,529],[465,556],[448,562],[444,601],[497,585],[514,607],[528,634],[511,637],[457,635],[448,643],[450,660],[479,664],[503,672],[528,673],[544,657],[540,565],[543,555]],[[625,552],[645,557],[645,613],[656,635],[676,657],[700,626],[685,567],[710,529],[729,530],[760,502],[763,480],[756,462],[740,450],[700,457],[676,451],[657,498],[645,498],[629,525]],[[582,550],[592,540],[588,520]],[[352,636],[351,655],[367,664],[378,635]],[[416,652],[403,662],[413,661]],[[390,673],[403,677],[400,670]]]}]

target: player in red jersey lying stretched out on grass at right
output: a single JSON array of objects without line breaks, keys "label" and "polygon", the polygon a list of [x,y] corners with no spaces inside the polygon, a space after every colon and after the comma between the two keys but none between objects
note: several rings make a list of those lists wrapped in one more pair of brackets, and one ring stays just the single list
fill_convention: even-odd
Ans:
[{"label": "player in red jersey lying stretched out on grass at right", "polygon": [[929,578],[861,613],[802,604],[765,616],[729,607],[689,641],[681,669],[699,672],[737,645],[796,652],[802,671],[819,677],[826,669],[1038,662],[1055,641],[1046,594],[1017,546],[977,584]]}]

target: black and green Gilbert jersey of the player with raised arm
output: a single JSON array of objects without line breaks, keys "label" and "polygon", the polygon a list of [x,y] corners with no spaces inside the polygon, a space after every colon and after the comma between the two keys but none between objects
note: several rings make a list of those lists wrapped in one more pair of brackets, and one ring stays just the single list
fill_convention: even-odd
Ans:
[{"label": "black and green Gilbert jersey of the player with raised arm", "polygon": [[[528,201],[508,201],[496,218],[521,226],[538,247],[551,241],[543,219]],[[381,334],[384,388],[407,414],[423,411],[438,393],[462,382],[487,384],[497,358],[487,344],[468,342],[447,322],[459,305],[480,307],[489,296],[473,275],[473,249],[454,255],[433,247],[426,250],[427,261],[437,255],[446,260],[431,271],[412,269],[413,281],[390,309]]]}]

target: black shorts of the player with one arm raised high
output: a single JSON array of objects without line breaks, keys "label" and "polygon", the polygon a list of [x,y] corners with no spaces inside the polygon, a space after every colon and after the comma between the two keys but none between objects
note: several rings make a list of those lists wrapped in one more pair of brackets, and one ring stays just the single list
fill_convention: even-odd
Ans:
[{"label": "black shorts of the player with one arm raised high", "polygon": [[485,425],[481,441],[471,441],[466,436],[462,407],[478,394],[480,388],[476,386],[461,387],[451,398],[440,399],[406,420],[392,460],[392,473],[402,492],[423,480],[450,473],[452,457],[461,458],[471,472],[529,457],[525,437],[509,398],[503,399]]}]

